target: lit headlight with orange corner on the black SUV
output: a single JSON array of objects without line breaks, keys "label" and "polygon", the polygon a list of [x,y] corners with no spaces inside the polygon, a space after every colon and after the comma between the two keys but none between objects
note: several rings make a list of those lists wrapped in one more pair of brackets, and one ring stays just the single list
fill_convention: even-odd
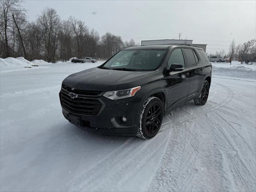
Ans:
[{"label": "lit headlight with orange corner on the black SUV", "polygon": [[134,96],[138,90],[140,90],[140,86],[126,90],[108,91],[103,96],[112,100],[122,99]]}]

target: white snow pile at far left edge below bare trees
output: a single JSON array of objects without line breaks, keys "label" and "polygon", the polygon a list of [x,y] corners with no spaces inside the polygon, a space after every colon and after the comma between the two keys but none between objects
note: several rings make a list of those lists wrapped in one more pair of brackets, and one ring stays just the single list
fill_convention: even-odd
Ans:
[{"label": "white snow pile at far left edge below bare trees", "polygon": [[31,67],[32,63],[28,60],[24,59],[23,57],[12,58],[8,57],[5,59],[0,58],[0,70],[15,70],[24,67]]}]

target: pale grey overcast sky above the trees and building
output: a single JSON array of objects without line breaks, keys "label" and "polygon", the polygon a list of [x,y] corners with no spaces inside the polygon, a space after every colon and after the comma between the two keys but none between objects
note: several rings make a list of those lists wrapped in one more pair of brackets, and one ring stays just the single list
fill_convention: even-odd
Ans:
[{"label": "pale grey overcast sky above the trees and building", "polygon": [[122,39],[182,39],[208,44],[206,52],[224,49],[256,38],[256,1],[74,1],[26,0],[28,19],[35,20],[44,7],[57,10],[61,19],[70,15],[86,22],[100,35]]}]

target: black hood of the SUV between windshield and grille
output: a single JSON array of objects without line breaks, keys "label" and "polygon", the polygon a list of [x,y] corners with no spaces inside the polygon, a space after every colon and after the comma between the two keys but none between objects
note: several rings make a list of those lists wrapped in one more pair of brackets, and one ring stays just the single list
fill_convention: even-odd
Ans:
[{"label": "black hood of the SUV between windshield and grille", "polygon": [[78,90],[122,90],[148,82],[146,77],[155,73],[156,71],[122,71],[95,67],[68,76],[62,84]]}]

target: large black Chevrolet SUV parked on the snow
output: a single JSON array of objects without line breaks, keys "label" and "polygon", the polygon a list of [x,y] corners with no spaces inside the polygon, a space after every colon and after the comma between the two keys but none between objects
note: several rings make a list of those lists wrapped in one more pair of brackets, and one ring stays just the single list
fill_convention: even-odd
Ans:
[{"label": "large black Chevrolet SUV parked on the snow", "polygon": [[101,134],[154,137],[169,110],[207,101],[212,65],[202,48],[126,48],[98,67],[68,76],[60,102],[72,124]]}]

